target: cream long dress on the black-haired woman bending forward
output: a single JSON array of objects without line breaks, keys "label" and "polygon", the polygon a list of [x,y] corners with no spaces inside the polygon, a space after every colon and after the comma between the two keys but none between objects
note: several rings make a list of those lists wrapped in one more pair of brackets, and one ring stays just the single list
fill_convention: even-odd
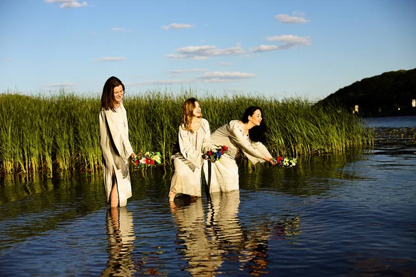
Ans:
[{"label": "cream long dress on the black-haired woman bending forward", "polygon": [[[239,120],[231,120],[226,125],[216,129],[211,134],[211,140],[216,145],[226,145],[230,154],[224,154],[219,161],[211,163],[211,169],[209,169],[209,162],[205,162],[205,178],[210,180],[209,193],[239,189],[239,168],[235,158],[241,152],[254,164],[265,162],[263,157],[272,158],[266,146],[260,142],[250,141],[241,129]],[[207,170],[205,170],[205,167]],[[211,172],[211,176],[209,176],[209,172]]]}]

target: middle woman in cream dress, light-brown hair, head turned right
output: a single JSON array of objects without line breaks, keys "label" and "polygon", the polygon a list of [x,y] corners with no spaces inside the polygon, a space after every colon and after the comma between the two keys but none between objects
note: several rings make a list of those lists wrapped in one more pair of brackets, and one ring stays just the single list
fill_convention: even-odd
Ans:
[{"label": "middle woman in cream dress, light-brown hair, head turned right", "polygon": [[170,202],[178,193],[191,197],[201,196],[202,155],[214,149],[216,145],[211,141],[209,123],[202,118],[198,100],[187,99],[182,105],[182,119],[172,156],[175,172],[169,190]]}]

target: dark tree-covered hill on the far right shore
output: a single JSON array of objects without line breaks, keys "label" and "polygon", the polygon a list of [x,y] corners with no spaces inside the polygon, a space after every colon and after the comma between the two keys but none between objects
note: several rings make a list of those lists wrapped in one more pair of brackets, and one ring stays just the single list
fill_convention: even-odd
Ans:
[{"label": "dark tree-covered hill on the far right shore", "polygon": [[336,102],[362,116],[416,115],[416,69],[385,72],[338,89],[317,105]]}]

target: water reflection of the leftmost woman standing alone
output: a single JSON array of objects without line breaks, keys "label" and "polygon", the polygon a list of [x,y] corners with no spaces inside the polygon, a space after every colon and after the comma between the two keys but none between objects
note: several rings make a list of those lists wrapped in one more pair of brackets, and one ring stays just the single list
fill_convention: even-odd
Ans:
[{"label": "water reflection of the leftmost woman standing alone", "polygon": [[107,268],[101,276],[132,276],[135,265],[132,251],[135,241],[132,213],[126,207],[112,207],[107,210]]}]

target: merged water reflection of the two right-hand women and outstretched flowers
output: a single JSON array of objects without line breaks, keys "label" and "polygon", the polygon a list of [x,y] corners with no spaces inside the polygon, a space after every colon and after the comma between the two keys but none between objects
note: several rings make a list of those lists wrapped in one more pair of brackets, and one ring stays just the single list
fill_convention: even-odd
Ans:
[{"label": "merged water reflection of the two right-hand women and outstretched flowers", "polygon": [[297,238],[300,217],[269,218],[243,227],[239,205],[239,190],[211,193],[206,206],[201,198],[182,197],[171,202],[177,254],[187,261],[182,270],[192,276],[214,276],[236,268],[254,276],[270,273],[270,240]]}]

